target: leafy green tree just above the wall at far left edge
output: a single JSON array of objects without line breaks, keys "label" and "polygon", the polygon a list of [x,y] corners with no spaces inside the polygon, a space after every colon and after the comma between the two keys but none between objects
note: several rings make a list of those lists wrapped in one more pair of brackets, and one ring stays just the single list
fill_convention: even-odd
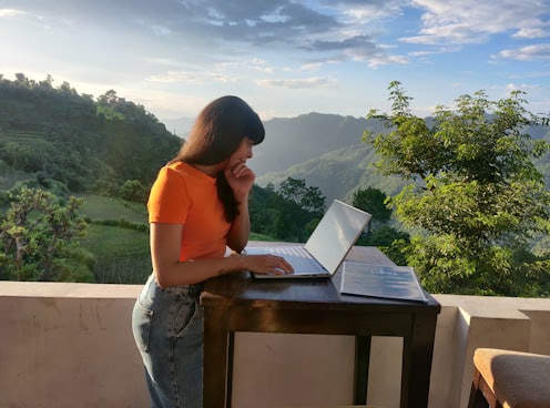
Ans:
[{"label": "leafy green tree just above the wall at far left edge", "polygon": [[78,213],[82,198],[60,201],[43,190],[10,192],[0,220],[0,278],[9,280],[92,280],[75,239],[86,223]]}]

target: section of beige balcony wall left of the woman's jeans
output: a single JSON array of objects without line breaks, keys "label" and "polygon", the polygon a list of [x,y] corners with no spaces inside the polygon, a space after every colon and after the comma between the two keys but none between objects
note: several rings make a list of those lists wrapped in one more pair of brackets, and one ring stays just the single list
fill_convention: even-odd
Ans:
[{"label": "section of beige balcony wall left of the woman's jeans", "polygon": [[0,407],[149,407],[132,286],[0,283]]}]

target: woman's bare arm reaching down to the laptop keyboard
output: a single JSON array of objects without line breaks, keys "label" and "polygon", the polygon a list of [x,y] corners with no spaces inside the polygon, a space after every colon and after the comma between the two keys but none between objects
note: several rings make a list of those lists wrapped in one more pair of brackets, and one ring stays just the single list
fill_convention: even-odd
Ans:
[{"label": "woman's bare arm reaching down to the laptop keyboard", "polygon": [[180,262],[183,224],[151,223],[151,261],[161,287],[191,285],[237,271],[291,273],[286,261],[273,255],[232,255]]}]

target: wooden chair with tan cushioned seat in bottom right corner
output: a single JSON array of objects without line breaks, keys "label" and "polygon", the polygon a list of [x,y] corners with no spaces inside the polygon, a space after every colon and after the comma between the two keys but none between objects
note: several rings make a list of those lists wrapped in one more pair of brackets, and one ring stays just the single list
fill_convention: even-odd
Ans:
[{"label": "wooden chair with tan cushioned seat in bottom right corner", "polygon": [[478,348],[468,408],[550,408],[550,356]]}]

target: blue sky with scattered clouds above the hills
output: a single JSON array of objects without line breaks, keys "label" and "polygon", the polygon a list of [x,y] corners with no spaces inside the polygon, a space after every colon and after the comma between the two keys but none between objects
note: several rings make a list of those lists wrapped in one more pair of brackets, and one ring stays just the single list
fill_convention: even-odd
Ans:
[{"label": "blue sky with scattered clouds above the hills", "polygon": [[[485,91],[550,112],[550,0],[0,0],[0,74],[114,90],[157,119],[234,94],[262,119],[415,114]],[[0,95],[1,98],[1,95]]]}]

